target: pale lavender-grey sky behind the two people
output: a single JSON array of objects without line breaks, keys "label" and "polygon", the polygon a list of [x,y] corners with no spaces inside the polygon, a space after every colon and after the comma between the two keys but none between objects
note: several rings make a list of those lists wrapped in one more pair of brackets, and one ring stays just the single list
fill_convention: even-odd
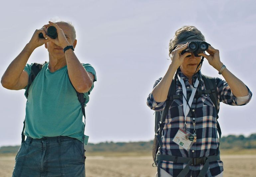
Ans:
[{"label": "pale lavender-grey sky behind the two people", "polygon": [[[255,90],[256,4],[254,0],[84,0],[4,1],[1,4],[0,75],[49,20],[71,21],[75,54],[96,70],[86,106],[89,143],[148,141],[154,138],[154,111],[146,105],[154,82],[170,65],[169,41],[184,25],[197,27],[220,51],[225,66]],[[28,63],[48,61],[44,46]],[[220,77],[207,60],[204,75]],[[223,78],[222,78],[223,79]],[[0,146],[19,145],[25,118],[25,90],[0,86]],[[256,133],[255,99],[245,106],[221,103],[222,136]]]}]

